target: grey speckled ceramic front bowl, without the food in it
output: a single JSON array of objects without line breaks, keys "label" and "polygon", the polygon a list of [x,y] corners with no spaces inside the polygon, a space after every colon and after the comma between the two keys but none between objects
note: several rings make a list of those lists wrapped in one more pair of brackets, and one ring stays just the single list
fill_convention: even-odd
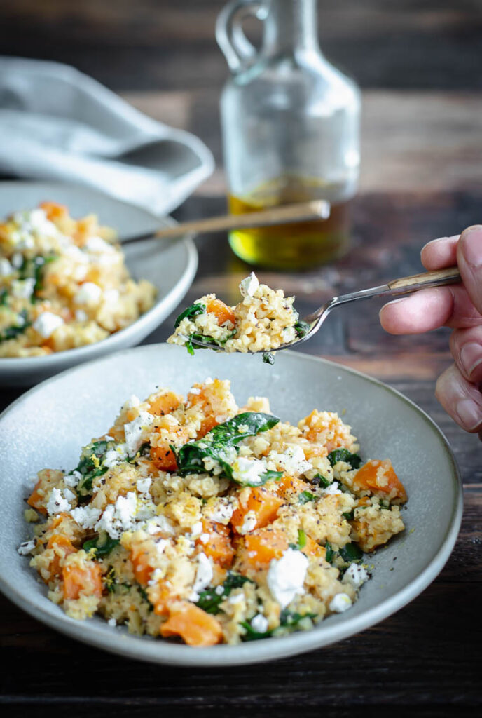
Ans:
[{"label": "grey speckled ceramic front bowl, without the food in it", "polygon": [[[409,495],[407,531],[373,556],[373,578],[359,601],[306,633],[239,646],[191,648],[128,635],[100,618],[77,622],[49,602],[28,559],[16,553],[27,538],[23,521],[27,479],[43,467],[70,468],[79,449],[105,432],[123,401],[156,385],[186,393],[207,376],[230,378],[237,401],[270,398],[272,411],[298,421],[313,408],[344,411],[362,456],[390,457]],[[0,587],[47,625],[114,653],[186,666],[268,661],[319,648],[381,621],[415,598],[437,576],[457,537],[462,514],[460,476],[448,444],[423,411],[378,381],[325,360],[292,352],[273,367],[260,357],[150,345],[70,369],[17,399],[0,416]],[[30,484],[31,485],[31,484]],[[394,561],[397,556],[397,561]],[[393,569],[393,570],[392,570]]]}]

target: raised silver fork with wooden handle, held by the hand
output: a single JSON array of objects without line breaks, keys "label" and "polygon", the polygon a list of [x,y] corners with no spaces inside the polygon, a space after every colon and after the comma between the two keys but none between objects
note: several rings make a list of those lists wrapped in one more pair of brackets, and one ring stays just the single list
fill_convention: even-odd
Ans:
[{"label": "raised silver fork with wooden handle, held by the hand", "polygon": [[[333,297],[329,302],[323,304],[313,314],[308,314],[303,320],[298,322],[298,337],[292,342],[282,344],[278,349],[260,350],[263,354],[270,354],[281,349],[288,349],[306,342],[318,332],[319,328],[328,317],[331,309],[339,307],[341,304],[348,302],[356,302],[357,299],[371,299],[372,297],[394,297],[400,294],[412,294],[419,289],[425,289],[430,286],[443,286],[444,284],[455,284],[460,281],[460,272],[458,267],[448,267],[447,269],[437,269],[435,271],[422,272],[422,274],[413,274],[412,276],[404,276],[400,279],[389,281],[388,284],[373,286],[371,289],[362,289],[360,292],[351,292],[350,294],[341,294],[341,297]],[[211,348],[212,345],[204,344],[204,342],[194,341],[194,347]],[[216,351],[224,351],[222,347],[215,347]],[[260,352],[253,352],[259,354]]]}]

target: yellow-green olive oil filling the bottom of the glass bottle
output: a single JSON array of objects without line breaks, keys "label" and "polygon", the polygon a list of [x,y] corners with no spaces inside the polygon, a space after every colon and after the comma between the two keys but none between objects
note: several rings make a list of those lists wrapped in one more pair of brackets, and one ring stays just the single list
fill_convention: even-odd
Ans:
[{"label": "yellow-green olive oil filling the bottom of the glass bottle", "polygon": [[[239,215],[292,202],[325,199],[334,188],[316,180],[284,177],[266,182],[245,197],[229,195],[230,213]],[[332,202],[329,218],[273,227],[234,230],[230,245],[238,257],[257,266],[308,269],[342,256],[349,246],[349,200]]]}]

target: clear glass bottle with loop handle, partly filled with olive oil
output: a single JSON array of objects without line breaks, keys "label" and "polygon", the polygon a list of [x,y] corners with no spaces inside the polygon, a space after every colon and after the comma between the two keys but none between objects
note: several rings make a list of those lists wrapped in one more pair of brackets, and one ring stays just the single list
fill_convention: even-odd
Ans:
[{"label": "clear glass bottle with loop handle, partly filled with olive oil", "polygon": [[[228,0],[217,21],[231,72],[220,100],[230,211],[331,204],[326,220],[230,233],[240,258],[273,269],[316,266],[348,248],[361,94],[321,52],[316,11],[317,0]],[[259,49],[243,34],[249,14],[263,23]]]}]

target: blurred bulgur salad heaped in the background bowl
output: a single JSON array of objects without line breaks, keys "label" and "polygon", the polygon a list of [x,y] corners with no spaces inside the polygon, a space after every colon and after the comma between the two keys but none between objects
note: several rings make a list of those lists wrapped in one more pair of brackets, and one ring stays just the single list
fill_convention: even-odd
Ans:
[{"label": "blurred bulgur salad heaped in the background bowl", "polygon": [[54,202],[0,224],[0,357],[93,344],[150,309],[156,289],[131,279],[114,237]]}]

